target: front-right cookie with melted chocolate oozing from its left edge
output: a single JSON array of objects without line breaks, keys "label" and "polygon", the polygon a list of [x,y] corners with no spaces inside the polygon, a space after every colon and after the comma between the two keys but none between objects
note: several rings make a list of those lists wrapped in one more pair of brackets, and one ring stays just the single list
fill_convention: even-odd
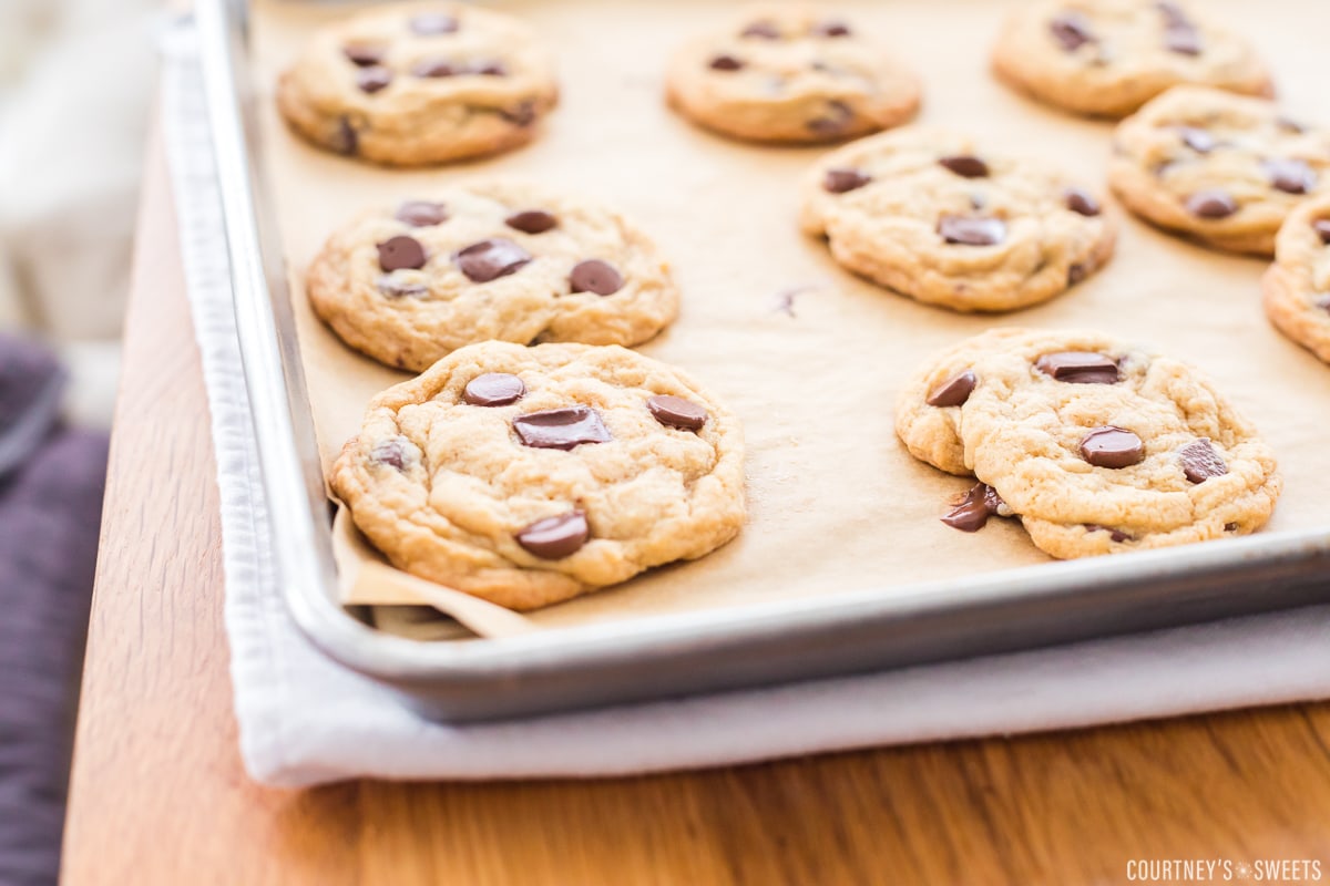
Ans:
[{"label": "front-right cookie with melted chocolate oozing from its left edge", "polygon": [[999,329],[943,352],[902,392],[898,432],[979,480],[947,522],[1019,515],[1057,558],[1252,533],[1282,487],[1270,448],[1201,373],[1091,332]]}]

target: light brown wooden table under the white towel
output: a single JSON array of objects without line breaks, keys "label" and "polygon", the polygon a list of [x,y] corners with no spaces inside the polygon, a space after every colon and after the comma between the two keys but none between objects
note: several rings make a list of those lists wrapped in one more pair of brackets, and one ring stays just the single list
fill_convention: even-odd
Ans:
[{"label": "light brown wooden table under the white towel", "polygon": [[154,139],[69,886],[1072,885],[1160,858],[1319,859],[1330,879],[1327,704],[613,781],[259,788],[237,751],[213,477]]}]

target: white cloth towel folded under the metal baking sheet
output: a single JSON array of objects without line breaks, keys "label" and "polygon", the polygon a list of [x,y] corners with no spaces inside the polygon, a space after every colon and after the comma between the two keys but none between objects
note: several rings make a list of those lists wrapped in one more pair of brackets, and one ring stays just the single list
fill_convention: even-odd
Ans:
[{"label": "white cloth towel folded under the metal baking sheet", "polygon": [[277,586],[193,31],[165,40],[164,125],[213,412],[241,747],[273,785],[714,766],[1330,697],[1330,606],[676,701],[447,725],[321,655]]}]

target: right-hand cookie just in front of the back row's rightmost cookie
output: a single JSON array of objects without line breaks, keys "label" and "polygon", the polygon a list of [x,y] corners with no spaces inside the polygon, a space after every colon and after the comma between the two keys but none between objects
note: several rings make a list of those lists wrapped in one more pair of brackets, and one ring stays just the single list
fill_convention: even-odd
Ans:
[{"label": "right-hand cookie just in front of the back row's rightmost cookie", "polygon": [[1330,130],[1261,98],[1177,86],[1119,124],[1109,183],[1160,227],[1270,255],[1293,207],[1330,193]]}]

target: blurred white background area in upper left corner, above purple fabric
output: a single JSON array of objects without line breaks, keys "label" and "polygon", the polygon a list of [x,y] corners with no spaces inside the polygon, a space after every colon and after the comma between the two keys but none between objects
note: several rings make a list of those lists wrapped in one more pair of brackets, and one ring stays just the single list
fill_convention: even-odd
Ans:
[{"label": "blurred white background area in upper left corner, above purple fabric", "polygon": [[109,426],[156,69],[154,0],[0,0],[0,328],[49,341]]}]

